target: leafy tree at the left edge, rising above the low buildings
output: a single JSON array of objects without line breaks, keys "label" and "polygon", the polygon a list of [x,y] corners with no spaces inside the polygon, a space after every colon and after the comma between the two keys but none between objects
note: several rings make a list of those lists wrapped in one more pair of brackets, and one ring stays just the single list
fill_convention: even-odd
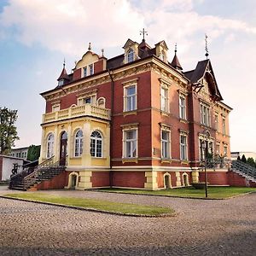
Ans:
[{"label": "leafy tree at the left edge, rising above the low buildings", "polygon": [[15,146],[15,140],[20,139],[15,126],[17,112],[18,110],[0,108],[0,154],[9,154]]}]

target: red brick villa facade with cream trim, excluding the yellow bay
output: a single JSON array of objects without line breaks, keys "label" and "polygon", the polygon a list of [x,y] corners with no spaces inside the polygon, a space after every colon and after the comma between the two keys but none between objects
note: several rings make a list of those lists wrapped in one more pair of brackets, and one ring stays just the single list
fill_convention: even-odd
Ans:
[{"label": "red brick villa facade with cream trim, excluding the yellow bay", "polygon": [[[202,157],[201,139],[207,141],[209,148],[212,143],[211,152],[208,148],[212,155],[224,155],[225,146],[226,154],[230,156],[228,115],[231,108],[222,102],[209,60],[199,61],[193,71],[182,72],[179,63],[172,61],[171,65],[165,58],[160,59],[160,53],[166,54],[167,50],[164,41],[155,44],[155,48],[152,49],[148,44],[137,44],[129,39],[124,49],[126,50],[127,47],[137,49],[133,48],[133,45],[138,45],[139,58],[129,63],[126,63],[125,55],[107,60],[89,49],[73,69],[73,73],[69,77],[63,77],[66,80],[61,88],[57,87],[42,94],[46,99],[46,113],[52,112],[52,105],[56,102],[55,96],[60,109],[78,104],[78,98],[81,95],[94,93],[96,102],[101,97],[105,98],[105,108],[111,110],[110,169],[113,167],[115,171],[111,172],[110,176],[109,172],[92,172],[90,178],[92,188],[110,185],[144,188],[145,183],[150,183],[150,178],[147,181],[146,177],[148,168],[157,169],[155,183],[158,189],[164,188],[166,173],[171,175],[172,187],[177,187],[177,184],[185,185],[183,172],[188,174],[190,184],[192,183],[191,172],[198,171]],[[147,55],[143,55],[143,52],[147,52]],[[86,55],[93,58],[97,56],[97,60],[93,64],[94,73],[83,77],[81,63],[86,59]],[[177,61],[177,56],[173,60]],[[84,65],[85,68],[89,67],[86,63]],[[137,106],[132,111],[124,109],[125,84],[129,83],[136,86]],[[164,101],[162,90],[166,91],[166,110],[162,108]],[[181,117],[181,97],[184,99],[183,108],[185,109],[183,118]],[[204,113],[207,124],[202,121],[204,115],[201,113],[201,104],[207,106],[208,113]],[[217,114],[218,122],[215,119]],[[226,120],[226,131],[216,127],[217,123],[221,126],[223,116]],[[135,158],[124,154],[124,130],[129,126],[137,129]],[[163,131],[169,134],[167,148],[169,147],[170,152],[167,157],[163,156],[161,141]],[[182,137],[185,140],[183,150]],[[217,144],[221,147],[220,152],[217,152]],[[185,154],[183,159],[181,154]],[[131,166],[131,169],[127,169],[128,166]],[[137,172],[137,168],[142,172]],[[226,174],[221,172],[209,172],[208,177],[210,183],[228,184]],[[201,174],[199,178],[202,180]]]}]

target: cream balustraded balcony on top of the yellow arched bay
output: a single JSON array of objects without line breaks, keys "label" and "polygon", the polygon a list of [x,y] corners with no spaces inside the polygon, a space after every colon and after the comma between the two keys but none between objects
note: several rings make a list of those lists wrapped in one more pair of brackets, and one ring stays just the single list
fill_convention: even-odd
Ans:
[{"label": "cream balustraded balcony on top of the yellow arched bay", "polygon": [[82,116],[91,116],[99,119],[110,120],[110,109],[100,108],[90,104],[85,104],[83,106],[71,107],[62,109],[59,111],[44,113],[43,114],[43,124],[50,123],[54,121],[60,121],[64,119],[73,119]]}]

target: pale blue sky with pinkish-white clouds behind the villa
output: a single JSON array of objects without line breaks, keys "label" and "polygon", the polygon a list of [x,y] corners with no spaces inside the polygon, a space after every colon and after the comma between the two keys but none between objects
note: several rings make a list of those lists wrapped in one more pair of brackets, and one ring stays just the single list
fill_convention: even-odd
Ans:
[{"label": "pale blue sky with pinkish-white clouds behind the villa", "polygon": [[140,31],[154,46],[174,45],[184,71],[209,58],[230,113],[231,151],[256,152],[255,0],[0,0],[0,107],[18,109],[20,140],[15,147],[41,143],[44,98],[65,58],[67,72],[92,50],[111,58],[123,53]]}]

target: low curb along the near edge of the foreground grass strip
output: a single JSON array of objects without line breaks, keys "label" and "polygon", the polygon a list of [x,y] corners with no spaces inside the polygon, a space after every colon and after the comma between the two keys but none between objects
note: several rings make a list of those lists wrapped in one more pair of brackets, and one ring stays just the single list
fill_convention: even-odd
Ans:
[{"label": "low curb along the near edge of the foreground grass strip", "polygon": [[164,213],[164,214],[160,214],[160,215],[109,212],[109,211],[104,211],[104,210],[97,210],[97,209],[94,209],[94,208],[88,208],[88,207],[67,206],[67,205],[51,203],[51,202],[47,202],[47,201],[34,201],[34,200],[23,199],[23,198],[13,198],[13,197],[5,196],[5,195],[0,195],[0,198],[10,199],[10,200],[15,200],[15,201],[27,201],[27,202],[33,202],[33,203],[38,203],[38,204],[43,204],[43,205],[48,205],[48,206],[54,206],[54,207],[71,208],[71,209],[86,211],[86,212],[99,212],[99,213],[106,213],[106,214],[110,214],[110,215],[119,215],[119,216],[126,216],[126,217],[165,218],[165,217],[175,217],[175,216],[177,216],[177,214],[175,212],[174,213]]}]

